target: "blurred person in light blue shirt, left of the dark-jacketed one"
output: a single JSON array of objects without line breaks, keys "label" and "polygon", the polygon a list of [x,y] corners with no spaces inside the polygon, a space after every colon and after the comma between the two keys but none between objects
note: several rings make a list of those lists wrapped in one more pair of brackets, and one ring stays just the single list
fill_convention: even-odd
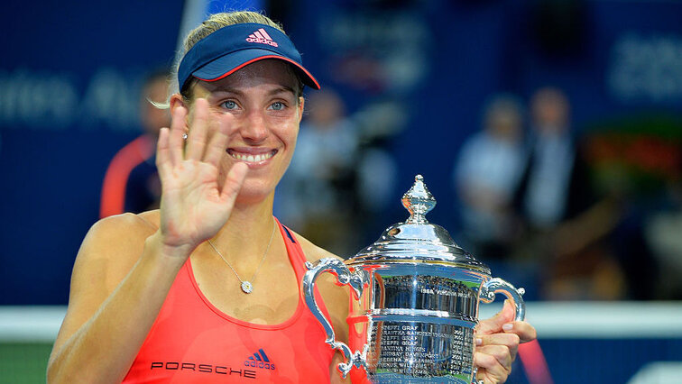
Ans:
[{"label": "blurred person in light blue shirt, left of the dark-jacketed one", "polygon": [[506,256],[516,236],[512,203],[526,160],[521,108],[515,96],[494,96],[484,108],[483,131],[463,144],[456,160],[465,247],[483,260]]}]

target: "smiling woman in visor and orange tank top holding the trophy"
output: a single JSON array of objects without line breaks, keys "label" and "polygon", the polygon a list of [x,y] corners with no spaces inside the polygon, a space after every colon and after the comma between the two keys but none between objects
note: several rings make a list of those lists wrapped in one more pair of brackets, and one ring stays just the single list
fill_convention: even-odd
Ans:
[{"label": "smiling woman in visor and orange tank top holding the trophy", "polygon": [[[172,123],[157,148],[161,208],[95,224],[74,265],[50,382],[340,380],[300,300],[303,262],[333,257],[272,216],[296,145],[303,85],[319,88],[281,27],[215,14],[186,40]],[[347,334],[347,292],[319,293]],[[500,382],[526,323],[482,325],[481,378]],[[485,335],[484,335],[485,334]],[[330,374],[331,373],[331,374]]]}]

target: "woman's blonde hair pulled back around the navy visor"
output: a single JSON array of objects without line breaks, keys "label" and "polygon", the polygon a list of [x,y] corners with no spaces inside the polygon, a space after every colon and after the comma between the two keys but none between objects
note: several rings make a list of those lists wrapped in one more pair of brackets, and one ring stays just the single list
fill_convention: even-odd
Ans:
[{"label": "woman's blonde hair pulled back around the navy visor", "polygon": [[[178,52],[175,64],[173,65],[173,71],[170,80],[171,84],[169,85],[168,99],[166,100],[165,104],[155,103],[154,105],[160,108],[169,108],[171,96],[177,93],[180,93],[180,95],[183,98],[189,100],[189,90],[191,90],[191,88],[197,83],[197,79],[191,78],[187,86],[184,87],[183,89],[180,89],[180,85],[178,84],[178,68],[180,67],[180,61],[182,60],[182,58],[185,56],[185,54],[187,54],[189,50],[192,49],[192,47],[194,47],[195,44],[198,43],[198,41],[201,41],[202,39],[206,38],[209,34],[216,32],[217,30],[228,25],[243,23],[259,23],[269,25],[272,28],[276,28],[277,30],[286,34],[280,23],[273,22],[272,19],[270,19],[268,16],[264,14],[259,14],[257,12],[235,11],[211,14],[206,21],[199,24],[197,28],[189,31],[187,37],[185,37],[185,40],[182,42],[182,50]],[[299,78],[298,75],[296,75],[296,73],[293,70],[291,71],[291,73],[294,74],[296,78]],[[300,92],[303,89],[303,85],[300,82],[300,80],[299,83],[300,84],[299,89],[297,89],[298,93],[297,96],[300,96]]]}]

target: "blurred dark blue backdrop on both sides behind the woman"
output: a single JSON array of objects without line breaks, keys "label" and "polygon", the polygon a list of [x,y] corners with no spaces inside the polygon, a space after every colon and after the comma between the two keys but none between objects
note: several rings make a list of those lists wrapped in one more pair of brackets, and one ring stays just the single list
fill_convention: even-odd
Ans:
[{"label": "blurred dark blue backdrop on both sides behind the woman", "polygon": [[[530,1],[273,3],[272,16],[349,114],[382,116],[364,129],[397,164],[395,203],[355,249],[404,218],[397,201],[417,173],[438,198],[431,220],[456,232],[453,161],[495,92],[562,87],[578,131],[652,111],[679,116],[682,4],[567,3],[576,8],[562,17]],[[106,165],[140,133],[141,78],[171,65],[182,9],[180,1],[5,6],[0,290],[12,294],[0,304],[67,302]]]}]

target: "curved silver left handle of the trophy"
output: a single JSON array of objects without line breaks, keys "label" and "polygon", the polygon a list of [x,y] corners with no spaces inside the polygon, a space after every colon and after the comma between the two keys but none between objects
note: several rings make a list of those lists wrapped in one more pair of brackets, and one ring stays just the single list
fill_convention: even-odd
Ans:
[{"label": "curved silver left handle of the trophy", "polygon": [[366,369],[366,361],[360,351],[355,351],[354,353],[346,343],[336,341],[334,328],[332,328],[327,317],[322,314],[322,310],[319,309],[318,303],[315,301],[315,280],[318,279],[318,276],[321,273],[330,272],[336,276],[338,285],[350,286],[353,288],[352,291],[355,295],[355,299],[359,299],[363,294],[364,284],[367,281],[364,276],[366,272],[357,270],[354,273],[351,273],[343,261],[335,258],[325,258],[315,262],[306,261],[306,268],[308,271],[305,276],[303,276],[303,286],[301,288],[306,299],[306,305],[310,308],[310,312],[312,312],[315,318],[318,319],[319,324],[325,329],[325,333],[327,334],[325,343],[329,344],[332,349],[339,350],[344,354],[344,362],[338,364],[338,370],[341,372],[341,375],[346,378],[346,375],[354,365],[357,368],[364,367]]}]

